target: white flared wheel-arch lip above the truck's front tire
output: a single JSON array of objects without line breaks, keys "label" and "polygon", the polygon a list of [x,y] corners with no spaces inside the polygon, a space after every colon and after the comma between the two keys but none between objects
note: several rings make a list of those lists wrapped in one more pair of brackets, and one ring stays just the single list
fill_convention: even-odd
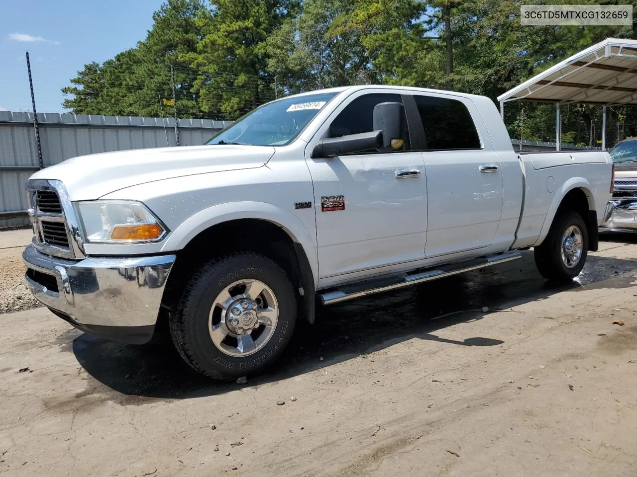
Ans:
[{"label": "white flared wheel-arch lip above the truck's front tire", "polygon": [[[266,202],[225,202],[203,209],[183,221],[166,239],[164,251],[183,249],[190,240],[213,225],[236,219],[261,219],[280,226],[293,242],[300,244],[305,251],[315,282],[318,277],[318,256],[316,237],[292,212],[266,204]],[[316,285],[316,283],[315,283]]]}]

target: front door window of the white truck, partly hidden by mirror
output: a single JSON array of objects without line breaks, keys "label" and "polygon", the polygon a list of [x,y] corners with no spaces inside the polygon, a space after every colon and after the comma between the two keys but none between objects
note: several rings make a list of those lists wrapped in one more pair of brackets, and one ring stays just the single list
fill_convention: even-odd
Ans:
[{"label": "front door window of the white truck, partly hidden by mirror", "polygon": [[[369,93],[352,100],[345,106],[329,127],[330,137],[340,137],[348,134],[360,134],[373,131],[374,106],[382,102],[399,102],[403,100],[399,94]],[[404,113],[403,113],[404,114]],[[407,120],[403,115],[401,139],[404,144],[402,151],[410,150]],[[369,151],[366,151],[369,152]]]}]

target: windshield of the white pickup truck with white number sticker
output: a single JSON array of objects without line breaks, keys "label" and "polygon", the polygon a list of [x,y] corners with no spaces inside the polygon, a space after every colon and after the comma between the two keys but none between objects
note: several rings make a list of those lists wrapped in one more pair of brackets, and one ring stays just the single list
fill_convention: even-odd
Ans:
[{"label": "windshield of the white pickup truck with white number sticker", "polygon": [[317,93],[269,102],[246,114],[206,144],[285,146],[336,93]]}]

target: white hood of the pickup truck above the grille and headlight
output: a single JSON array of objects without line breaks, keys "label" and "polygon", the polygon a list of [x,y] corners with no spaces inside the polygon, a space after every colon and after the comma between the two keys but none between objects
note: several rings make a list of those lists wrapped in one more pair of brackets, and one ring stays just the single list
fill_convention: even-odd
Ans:
[{"label": "white hood of the pickup truck above the grille and headlight", "polygon": [[253,169],[275,153],[269,146],[185,146],[131,149],[68,159],[31,179],[62,181],[71,200],[94,200],[123,188],[172,177]]}]

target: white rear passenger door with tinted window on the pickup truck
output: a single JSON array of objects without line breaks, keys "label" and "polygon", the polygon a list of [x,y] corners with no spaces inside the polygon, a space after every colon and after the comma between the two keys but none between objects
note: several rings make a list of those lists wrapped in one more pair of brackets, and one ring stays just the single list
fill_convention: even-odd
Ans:
[{"label": "white rear passenger door with tinted window on the pickup truck", "polygon": [[427,176],[427,258],[489,247],[503,207],[499,158],[470,99],[414,94]]}]

